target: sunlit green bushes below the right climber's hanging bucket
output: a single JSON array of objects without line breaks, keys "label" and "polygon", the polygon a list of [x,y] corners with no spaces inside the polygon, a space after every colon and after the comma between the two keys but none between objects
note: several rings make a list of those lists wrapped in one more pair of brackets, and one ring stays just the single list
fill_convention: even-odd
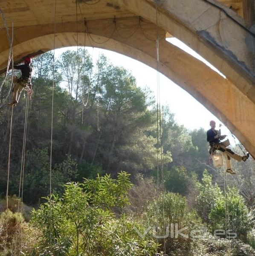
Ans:
[{"label": "sunlit green bushes below the right climber's hanging bucket", "polygon": [[238,190],[228,187],[225,197],[217,183],[212,185],[212,176],[206,171],[203,174],[202,183],[197,183],[197,188],[199,189],[196,199],[197,212],[203,221],[209,224],[212,232],[216,229],[226,229],[227,207],[227,222],[229,215],[227,229],[232,229],[237,233],[238,238],[246,241],[247,232],[252,227],[252,215]]}]

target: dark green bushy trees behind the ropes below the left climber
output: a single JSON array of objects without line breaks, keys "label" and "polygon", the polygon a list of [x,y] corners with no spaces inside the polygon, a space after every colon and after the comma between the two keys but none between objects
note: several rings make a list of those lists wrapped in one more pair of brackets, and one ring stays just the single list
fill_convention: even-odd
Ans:
[{"label": "dark green bushy trees behind the ropes below the left climber", "polygon": [[[35,204],[41,200],[41,197],[49,195],[49,163],[49,154],[46,148],[35,148],[33,151],[26,152],[23,183],[24,202]],[[55,164],[55,167],[52,168],[52,191],[61,194],[64,183],[75,180],[77,173],[77,163],[71,156],[67,156],[62,163]],[[15,181],[15,183],[11,183],[11,191],[18,195],[19,176]]]}]

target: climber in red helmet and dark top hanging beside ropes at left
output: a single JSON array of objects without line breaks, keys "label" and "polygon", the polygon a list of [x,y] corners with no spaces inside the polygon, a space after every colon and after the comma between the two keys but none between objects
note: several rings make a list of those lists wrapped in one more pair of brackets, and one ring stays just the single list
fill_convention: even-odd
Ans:
[{"label": "climber in red helmet and dark top hanging beside ropes at left", "polygon": [[32,95],[32,83],[31,83],[31,76],[32,76],[32,67],[30,66],[32,59],[27,57],[24,60],[23,65],[13,66],[16,70],[21,70],[20,78],[14,76],[13,82],[13,93],[12,93],[12,102],[8,103],[9,106],[16,106],[20,99],[20,94],[24,88],[28,90],[29,96]]}]

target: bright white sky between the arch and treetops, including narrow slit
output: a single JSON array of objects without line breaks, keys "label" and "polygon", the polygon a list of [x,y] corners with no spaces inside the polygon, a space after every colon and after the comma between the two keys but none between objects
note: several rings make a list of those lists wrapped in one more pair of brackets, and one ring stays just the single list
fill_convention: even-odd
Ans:
[{"label": "bright white sky between the arch and treetops, including narrow slit", "polygon": [[[206,65],[211,67],[216,72],[220,73],[215,67],[213,67],[209,62],[203,59],[200,55],[194,52],[190,47],[183,44],[177,38],[168,38],[170,43],[180,47],[184,51],[188,52],[195,58],[203,61]],[[55,50],[55,56],[58,57],[65,50],[76,50],[76,47],[67,47]],[[154,93],[155,98],[157,98],[157,72],[151,67],[129,58],[125,55],[121,55],[116,52],[109,50],[86,47],[90,55],[93,57],[95,62],[99,54],[103,53],[113,65],[122,66],[127,70],[130,70],[133,76],[136,78],[137,85],[139,87],[149,87]],[[220,73],[223,76],[223,74]],[[224,76],[223,76],[224,77]],[[194,99],[189,93],[175,84],[173,81],[165,77],[164,75],[159,75],[159,86],[160,86],[160,103],[161,105],[168,105],[169,109],[175,114],[175,119],[180,125],[184,125],[189,130],[204,128],[208,130],[210,128],[209,121],[216,121],[216,129],[219,128],[218,125],[221,123],[211,112],[209,112],[202,104],[200,104],[196,99]],[[234,145],[234,140],[229,132],[229,130],[222,124],[221,134],[228,135],[232,145]],[[238,142],[238,141],[237,141]]]}]

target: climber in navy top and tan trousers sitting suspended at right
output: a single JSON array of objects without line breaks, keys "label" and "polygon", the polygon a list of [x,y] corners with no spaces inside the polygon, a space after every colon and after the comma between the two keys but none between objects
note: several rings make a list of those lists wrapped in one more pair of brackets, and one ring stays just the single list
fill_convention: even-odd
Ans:
[{"label": "climber in navy top and tan trousers sitting suspended at right", "polygon": [[223,152],[223,156],[225,156],[226,159],[226,172],[229,172],[231,174],[235,174],[235,172],[232,171],[231,166],[231,158],[241,162],[242,160],[245,162],[249,158],[249,153],[246,153],[244,156],[240,156],[236,153],[234,153],[231,149],[227,148],[226,145],[224,145],[221,140],[224,140],[226,138],[226,135],[220,135],[220,131],[215,130],[215,121],[210,121],[211,129],[209,129],[206,132],[207,135],[207,141],[210,144],[210,155],[216,154],[216,150],[220,150]]}]

